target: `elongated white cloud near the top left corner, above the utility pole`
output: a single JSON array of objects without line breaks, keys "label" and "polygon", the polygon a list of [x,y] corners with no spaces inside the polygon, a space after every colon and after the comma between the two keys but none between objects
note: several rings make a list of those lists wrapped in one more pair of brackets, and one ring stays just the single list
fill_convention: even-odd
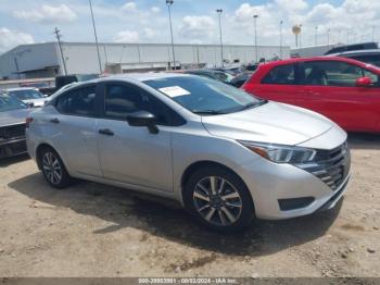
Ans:
[{"label": "elongated white cloud near the top left corner, above the utility pole", "polygon": [[65,4],[56,7],[43,4],[38,10],[14,11],[13,15],[17,18],[36,23],[66,23],[74,22],[77,18],[77,14]]}]

